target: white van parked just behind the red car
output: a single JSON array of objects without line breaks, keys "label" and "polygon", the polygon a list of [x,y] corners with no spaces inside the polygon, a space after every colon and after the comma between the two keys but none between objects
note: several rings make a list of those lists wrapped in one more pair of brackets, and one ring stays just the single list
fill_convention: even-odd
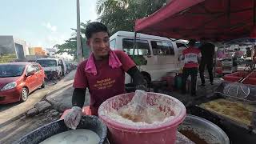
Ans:
[{"label": "white van parked just behind the red car", "polygon": [[52,71],[57,71],[59,76],[66,74],[66,64],[62,59],[58,58],[39,58],[36,60],[46,74],[50,74]]}]

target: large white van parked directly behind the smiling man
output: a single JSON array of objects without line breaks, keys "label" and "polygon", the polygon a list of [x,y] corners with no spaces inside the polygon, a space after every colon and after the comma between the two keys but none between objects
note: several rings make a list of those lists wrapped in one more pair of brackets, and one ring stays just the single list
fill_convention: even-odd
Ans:
[{"label": "large white van parked directly behind the smiling man", "polygon": [[[168,72],[180,70],[182,62],[178,60],[179,47],[186,47],[186,44],[138,33],[134,49],[134,32],[118,31],[110,37],[110,48],[123,50],[130,55],[147,82],[160,80]],[[126,83],[130,82],[131,78],[126,74]]]}]

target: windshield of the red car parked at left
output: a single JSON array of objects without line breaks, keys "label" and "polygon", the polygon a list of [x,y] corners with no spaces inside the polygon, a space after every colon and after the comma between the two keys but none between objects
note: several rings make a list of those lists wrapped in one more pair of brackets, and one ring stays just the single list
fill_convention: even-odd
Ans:
[{"label": "windshield of the red car parked at left", "polygon": [[21,76],[24,69],[25,65],[0,65],[0,78]]}]

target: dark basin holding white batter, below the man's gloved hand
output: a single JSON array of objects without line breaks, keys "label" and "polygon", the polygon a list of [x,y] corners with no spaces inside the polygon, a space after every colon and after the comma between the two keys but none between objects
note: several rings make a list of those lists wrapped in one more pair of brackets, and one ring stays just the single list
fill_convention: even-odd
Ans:
[{"label": "dark basin holding white batter, below the man's gloved hand", "polygon": [[[89,115],[82,116],[77,129],[92,130],[96,134],[98,134],[100,138],[99,144],[108,143],[106,138],[106,133],[107,133],[106,125],[96,116],[89,116]],[[14,142],[14,143],[38,144],[39,142],[42,142],[45,139],[50,138],[55,134],[65,132],[67,130],[70,130],[70,129],[66,127],[64,120],[61,119],[55,122],[51,122],[45,126],[39,127],[38,129],[30,132],[29,134],[26,134],[23,138],[19,139],[17,142]]]}]

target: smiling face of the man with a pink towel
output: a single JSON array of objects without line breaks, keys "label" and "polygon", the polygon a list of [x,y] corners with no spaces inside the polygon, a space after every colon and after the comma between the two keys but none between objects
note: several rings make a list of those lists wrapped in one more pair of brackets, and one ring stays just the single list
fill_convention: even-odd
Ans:
[{"label": "smiling face of the man with a pink towel", "polygon": [[105,57],[110,51],[110,37],[106,32],[94,33],[88,39],[87,45],[90,46],[95,58]]}]

